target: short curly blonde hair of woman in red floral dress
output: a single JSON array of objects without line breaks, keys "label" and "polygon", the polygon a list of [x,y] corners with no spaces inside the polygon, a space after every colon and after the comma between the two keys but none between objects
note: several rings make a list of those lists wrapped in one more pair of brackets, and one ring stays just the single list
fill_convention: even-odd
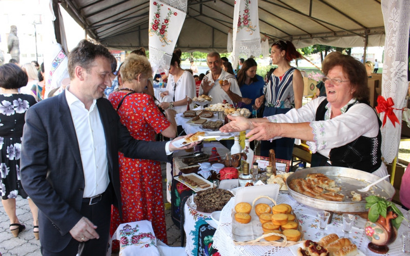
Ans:
[{"label": "short curly blonde hair of woman in red floral dress", "polygon": [[133,53],[121,64],[119,73],[121,74],[122,81],[130,82],[139,74],[150,77],[152,75],[152,69],[147,57]]}]

